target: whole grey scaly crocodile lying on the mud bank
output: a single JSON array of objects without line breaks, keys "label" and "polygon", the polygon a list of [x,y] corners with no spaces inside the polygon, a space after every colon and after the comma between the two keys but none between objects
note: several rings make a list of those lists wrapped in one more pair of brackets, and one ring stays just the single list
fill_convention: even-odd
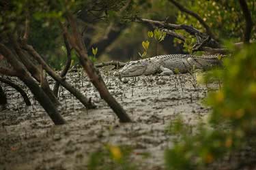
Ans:
[{"label": "whole grey scaly crocodile lying on the mud bank", "polygon": [[171,75],[173,73],[188,73],[193,69],[210,69],[221,65],[218,55],[193,56],[190,54],[167,54],[130,61],[119,70],[121,77],[138,75]]}]

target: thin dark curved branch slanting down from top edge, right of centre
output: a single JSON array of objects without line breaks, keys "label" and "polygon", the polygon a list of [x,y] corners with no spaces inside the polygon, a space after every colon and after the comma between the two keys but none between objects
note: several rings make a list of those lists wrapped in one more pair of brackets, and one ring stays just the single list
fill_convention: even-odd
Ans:
[{"label": "thin dark curved branch slanting down from top edge, right of centre", "polygon": [[208,24],[206,24],[206,22],[197,13],[186,9],[186,7],[182,6],[180,3],[178,3],[175,0],[169,0],[169,1],[171,3],[173,3],[173,5],[175,5],[177,8],[179,8],[180,11],[185,12],[186,14],[189,14],[190,16],[193,16],[194,18],[196,18],[200,22],[200,24],[203,25],[203,27],[206,30],[206,33],[208,35],[210,35],[210,37],[212,37],[213,39],[216,39],[216,37],[212,33],[212,31],[211,31],[210,27],[208,26]]}]

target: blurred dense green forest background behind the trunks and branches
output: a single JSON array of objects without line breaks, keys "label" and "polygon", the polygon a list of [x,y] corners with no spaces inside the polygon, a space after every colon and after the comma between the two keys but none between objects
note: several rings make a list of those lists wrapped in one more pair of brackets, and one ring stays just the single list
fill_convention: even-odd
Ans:
[{"label": "blurred dense green forest background behind the trunks and branches", "polygon": [[[128,1],[83,1],[76,3],[81,6],[73,8],[89,55],[93,56],[92,48],[98,48],[96,55],[98,61],[111,59],[128,61],[140,58],[138,52],[143,51],[141,42],[149,39],[147,32],[154,31],[157,26],[153,27],[150,23],[139,24],[137,18],[188,24],[199,31],[205,31],[197,18],[181,12],[171,1],[141,0],[131,1],[128,5],[126,3]],[[197,13],[220,41],[232,39],[234,42],[240,42],[242,40],[245,20],[238,1],[180,1],[179,3]],[[247,1],[247,3],[252,19],[255,21],[255,2]],[[25,3],[20,2],[20,4],[23,4],[20,8],[26,6]],[[126,7],[124,7],[125,4]],[[45,12],[36,11],[31,14],[33,20],[31,20],[29,43],[46,58],[48,63],[60,69],[60,66],[65,63],[66,54],[63,52],[61,29],[54,18],[62,14],[61,2],[51,5],[53,9],[46,7]],[[54,8],[55,5],[58,7]],[[191,52],[196,41],[195,37],[184,31],[176,32],[188,38],[182,42],[167,34],[160,42],[160,54]],[[255,36],[255,31],[252,31],[251,38],[255,39]],[[150,42],[148,56],[154,56],[157,53],[157,41],[152,39]],[[76,60],[74,56],[73,60]]]}]

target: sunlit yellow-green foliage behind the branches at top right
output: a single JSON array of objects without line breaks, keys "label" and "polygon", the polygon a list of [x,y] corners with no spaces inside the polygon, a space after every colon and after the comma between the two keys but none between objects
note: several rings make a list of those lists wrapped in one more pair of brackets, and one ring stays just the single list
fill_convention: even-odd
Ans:
[{"label": "sunlit yellow-green foliage behind the branches at top right", "polygon": [[[209,25],[214,35],[219,39],[230,39],[232,37],[233,41],[241,41],[244,35],[245,20],[240,4],[236,0],[231,1],[181,1],[184,3],[184,7],[196,12],[203,18],[206,24]],[[251,10],[251,16],[253,22],[256,22],[256,8],[255,1],[248,0],[249,10]],[[199,23],[197,19],[193,16],[189,16],[184,12],[177,12],[177,23],[178,24],[188,24],[193,25],[193,27],[205,32],[205,29]],[[177,31],[178,33],[180,31]],[[190,39],[189,35],[182,33],[186,39]],[[255,27],[252,31],[252,39],[256,38]],[[179,42],[175,40],[176,42]],[[179,42],[180,43],[180,42]],[[186,40],[184,43],[184,48],[187,52],[191,52],[191,46],[195,43],[195,39]]]}]

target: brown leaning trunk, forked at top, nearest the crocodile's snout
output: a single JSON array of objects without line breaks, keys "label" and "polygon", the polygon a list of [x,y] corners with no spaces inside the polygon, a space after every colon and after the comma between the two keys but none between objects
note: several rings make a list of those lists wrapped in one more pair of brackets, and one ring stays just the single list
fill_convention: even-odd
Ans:
[{"label": "brown leaning trunk, forked at top, nearest the crocodile's snout", "polygon": [[110,94],[109,90],[106,88],[106,84],[102,80],[102,77],[98,69],[96,69],[94,67],[94,64],[90,61],[85,45],[83,44],[83,40],[81,39],[81,35],[77,30],[76,22],[71,14],[68,16],[68,20],[72,28],[73,36],[70,36],[68,34],[66,27],[63,27],[62,29],[64,33],[66,33],[72,47],[79,54],[78,55],[79,61],[83,69],[86,71],[87,75],[89,76],[91,83],[94,84],[98,92],[100,92],[100,96],[102,97],[102,99],[104,99],[104,101],[106,101],[106,103],[109,104],[111,109],[113,109],[113,111],[119,118],[120,122],[131,122],[129,116],[126,114],[123,107],[119,105],[119,103],[117,103],[115,98]]}]

